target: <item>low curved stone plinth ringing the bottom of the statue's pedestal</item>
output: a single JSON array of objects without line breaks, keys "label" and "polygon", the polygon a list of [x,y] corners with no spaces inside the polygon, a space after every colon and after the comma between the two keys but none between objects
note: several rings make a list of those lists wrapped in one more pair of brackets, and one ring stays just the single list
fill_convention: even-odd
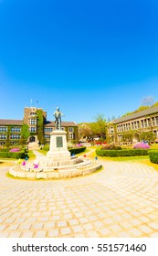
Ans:
[{"label": "low curved stone plinth ringing the bottom of the statue's pedestal", "polygon": [[60,179],[89,175],[100,168],[100,163],[93,163],[90,160],[85,160],[77,165],[40,167],[37,171],[30,168],[17,168],[17,166],[15,166],[10,168],[9,174],[11,176],[28,179]]}]

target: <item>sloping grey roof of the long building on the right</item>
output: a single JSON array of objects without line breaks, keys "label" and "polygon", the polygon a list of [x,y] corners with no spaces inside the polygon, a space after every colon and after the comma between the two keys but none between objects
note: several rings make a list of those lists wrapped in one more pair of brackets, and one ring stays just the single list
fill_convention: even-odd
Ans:
[{"label": "sloping grey roof of the long building on the right", "polygon": [[123,123],[123,122],[127,122],[130,121],[132,119],[136,119],[136,118],[140,118],[146,115],[151,115],[153,113],[158,113],[158,106],[153,107],[153,108],[149,108],[147,110],[144,110],[142,112],[135,112],[132,114],[129,114],[127,116],[122,116],[121,118],[115,119],[113,120],[113,123]]}]

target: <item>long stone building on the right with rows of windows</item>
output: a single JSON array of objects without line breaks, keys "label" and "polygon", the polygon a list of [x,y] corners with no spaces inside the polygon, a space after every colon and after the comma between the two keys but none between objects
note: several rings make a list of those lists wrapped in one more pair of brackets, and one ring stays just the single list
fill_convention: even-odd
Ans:
[{"label": "long stone building on the right with rows of windows", "polygon": [[139,135],[142,132],[154,133],[155,142],[158,142],[158,106],[123,116],[108,123],[107,141],[121,144],[124,142],[123,135],[132,134],[132,142],[135,143],[139,141]]}]

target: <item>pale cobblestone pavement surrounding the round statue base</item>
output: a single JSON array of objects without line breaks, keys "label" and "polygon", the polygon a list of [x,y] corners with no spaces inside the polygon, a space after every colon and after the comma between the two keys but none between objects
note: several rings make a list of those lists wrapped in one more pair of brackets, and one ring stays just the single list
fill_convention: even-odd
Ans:
[{"label": "pale cobblestone pavement surrounding the round statue base", "polygon": [[102,162],[67,180],[28,181],[0,167],[0,237],[156,237],[158,173],[150,166]]}]

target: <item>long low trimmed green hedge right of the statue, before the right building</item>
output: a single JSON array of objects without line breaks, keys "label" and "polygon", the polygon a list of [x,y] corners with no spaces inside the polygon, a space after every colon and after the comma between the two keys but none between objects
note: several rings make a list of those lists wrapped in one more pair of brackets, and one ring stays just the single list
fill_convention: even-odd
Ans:
[{"label": "long low trimmed green hedge right of the statue, before the right building", "polygon": [[123,149],[123,150],[96,150],[96,154],[100,156],[137,156],[137,155],[148,155],[148,150],[145,149]]}]

